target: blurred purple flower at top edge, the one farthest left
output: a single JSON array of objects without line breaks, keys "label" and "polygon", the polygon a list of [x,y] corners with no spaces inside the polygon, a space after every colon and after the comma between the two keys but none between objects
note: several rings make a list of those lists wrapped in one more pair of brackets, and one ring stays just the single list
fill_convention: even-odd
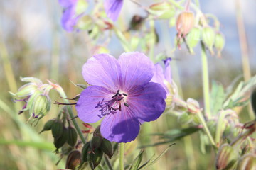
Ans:
[{"label": "blurred purple flower at top edge, the one farthest left", "polygon": [[63,16],[61,18],[61,24],[67,31],[73,31],[78,19],[81,16],[75,12],[75,8],[78,0],[59,0],[61,6],[63,6]]}]

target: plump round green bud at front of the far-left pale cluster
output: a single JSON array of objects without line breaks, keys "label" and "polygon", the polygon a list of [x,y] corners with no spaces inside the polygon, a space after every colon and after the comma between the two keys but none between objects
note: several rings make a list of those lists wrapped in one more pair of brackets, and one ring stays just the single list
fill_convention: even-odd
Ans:
[{"label": "plump round green bud at front of the far-left pale cluster", "polygon": [[50,111],[50,98],[44,94],[38,94],[33,101],[33,113],[46,115]]}]

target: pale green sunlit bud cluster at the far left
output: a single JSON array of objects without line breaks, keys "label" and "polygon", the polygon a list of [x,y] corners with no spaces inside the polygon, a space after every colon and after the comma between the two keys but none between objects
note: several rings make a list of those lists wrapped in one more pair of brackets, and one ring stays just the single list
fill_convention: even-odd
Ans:
[{"label": "pale green sunlit bud cluster at the far left", "polygon": [[24,111],[28,111],[31,118],[37,118],[38,120],[43,118],[50,111],[50,98],[48,96],[49,91],[53,89],[51,84],[43,84],[40,79],[34,77],[21,77],[21,81],[27,82],[21,86],[16,94],[12,95],[22,98],[15,101],[23,101],[25,104],[18,113],[21,114]]}]

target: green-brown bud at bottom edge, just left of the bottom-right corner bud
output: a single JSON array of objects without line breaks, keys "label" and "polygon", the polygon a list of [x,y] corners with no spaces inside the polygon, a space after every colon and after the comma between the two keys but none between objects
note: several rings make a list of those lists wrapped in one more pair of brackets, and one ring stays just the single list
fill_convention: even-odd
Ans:
[{"label": "green-brown bud at bottom edge, just left of the bottom-right corner bud", "polygon": [[216,157],[216,169],[234,169],[239,158],[238,152],[228,144],[223,144]]}]

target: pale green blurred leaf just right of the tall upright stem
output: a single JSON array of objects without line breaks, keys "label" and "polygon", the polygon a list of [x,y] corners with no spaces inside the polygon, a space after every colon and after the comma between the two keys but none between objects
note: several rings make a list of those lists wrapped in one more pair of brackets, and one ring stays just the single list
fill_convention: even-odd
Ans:
[{"label": "pale green blurred leaf just right of the tall upright stem", "polygon": [[210,108],[214,115],[222,109],[223,101],[225,99],[225,91],[223,85],[213,81],[212,82],[212,89],[210,91]]}]

